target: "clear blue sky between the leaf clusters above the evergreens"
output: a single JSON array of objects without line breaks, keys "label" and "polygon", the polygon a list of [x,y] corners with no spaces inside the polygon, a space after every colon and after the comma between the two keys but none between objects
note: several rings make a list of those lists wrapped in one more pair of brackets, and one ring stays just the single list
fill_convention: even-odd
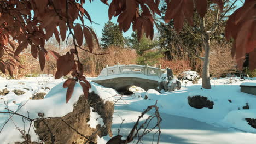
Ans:
[{"label": "clear blue sky between the leaf clusters above the evergreens", "polygon": [[[108,3],[110,3],[109,1]],[[89,1],[85,1],[85,4],[83,7],[88,11],[89,15],[91,16],[92,21],[100,24],[94,24],[90,23],[88,20],[85,21],[85,25],[92,26],[96,34],[98,35],[98,38],[102,37],[102,29],[105,25],[105,23],[109,20],[108,19],[108,5],[103,4],[100,0],[92,1],[91,3]],[[112,22],[117,23],[117,17],[113,17]],[[123,33],[124,37],[130,36],[132,33],[132,27],[129,29],[129,31]]]}]

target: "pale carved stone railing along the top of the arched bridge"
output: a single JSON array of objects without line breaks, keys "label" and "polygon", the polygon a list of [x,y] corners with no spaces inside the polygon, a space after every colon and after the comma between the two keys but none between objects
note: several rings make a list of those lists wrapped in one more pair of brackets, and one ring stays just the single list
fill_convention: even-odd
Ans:
[{"label": "pale carved stone railing along the top of the arched bridge", "polygon": [[114,65],[111,67],[106,66],[98,77],[119,75],[119,74],[143,74],[148,76],[161,77],[165,73],[165,69],[150,67],[148,65]]}]

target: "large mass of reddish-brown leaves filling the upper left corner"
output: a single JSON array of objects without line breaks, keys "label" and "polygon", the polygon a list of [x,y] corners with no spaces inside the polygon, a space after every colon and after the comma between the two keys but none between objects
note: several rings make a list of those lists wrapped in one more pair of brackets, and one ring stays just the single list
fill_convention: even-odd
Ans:
[{"label": "large mass of reddish-brown leaves filling the upper left corner", "polygon": [[[21,67],[19,54],[24,49],[31,48],[31,53],[34,58],[39,59],[41,70],[45,67],[45,62],[48,61],[48,53],[57,59],[57,73],[55,78],[67,75],[72,71],[72,76],[75,80],[86,81],[83,76],[82,64],[78,61],[77,47],[83,44],[85,38],[89,46],[89,51],[92,51],[94,43],[93,37],[96,34],[92,29],[84,25],[84,19],[91,22],[91,17],[83,8],[85,0],[4,0],[1,1],[0,9],[0,70],[2,73],[9,71],[13,76],[13,69]],[[82,24],[74,23],[80,19]],[[45,49],[45,43],[50,38],[54,37],[58,43],[64,41],[69,34],[73,35],[75,49],[64,56],[58,53]],[[15,47],[11,41],[17,41],[18,46]],[[9,47],[11,46],[12,49]],[[3,61],[4,55],[10,55],[13,59]],[[77,56],[77,57],[75,57]],[[70,80],[69,80],[70,81]],[[87,81],[86,81],[87,82]],[[74,88],[74,82],[68,82],[68,89]],[[84,85],[84,84],[82,84]],[[90,87],[89,83],[84,86]],[[83,88],[84,88],[83,86]],[[84,89],[88,89],[85,87]],[[86,91],[85,95],[87,94]],[[88,92],[88,91],[87,91]],[[72,94],[68,90],[67,98]],[[68,100],[67,100],[68,101]]]}]

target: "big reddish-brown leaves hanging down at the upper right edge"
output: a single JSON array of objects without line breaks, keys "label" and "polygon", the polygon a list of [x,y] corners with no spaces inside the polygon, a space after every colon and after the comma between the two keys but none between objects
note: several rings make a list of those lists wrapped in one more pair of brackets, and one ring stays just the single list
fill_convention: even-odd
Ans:
[{"label": "big reddish-brown leaves hanging down at the upper right edge", "polygon": [[249,67],[256,69],[256,1],[245,0],[226,24],[226,39],[234,39],[232,55],[236,54],[238,67],[242,69],[245,54],[249,53]]}]

